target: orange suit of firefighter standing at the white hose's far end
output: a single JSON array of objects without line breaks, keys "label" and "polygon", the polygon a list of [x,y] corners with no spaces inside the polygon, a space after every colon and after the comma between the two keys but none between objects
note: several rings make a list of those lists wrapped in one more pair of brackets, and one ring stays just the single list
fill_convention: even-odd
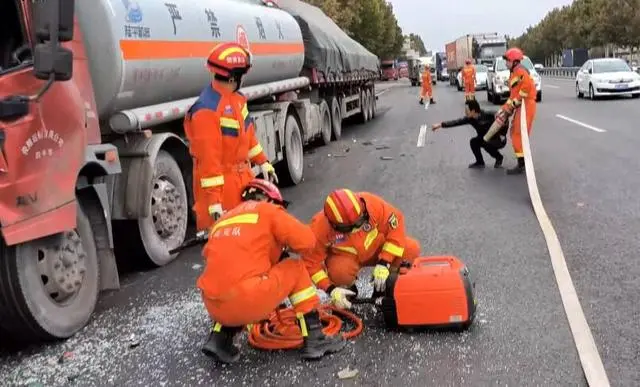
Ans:
[{"label": "orange suit of firefighter standing at the white hose's far end", "polygon": [[511,93],[507,102],[502,105],[502,110],[509,113],[515,110],[515,115],[511,122],[511,144],[516,157],[524,157],[522,137],[520,137],[520,106],[522,103],[526,106],[527,133],[531,134],[533,119],[536,116],[536,84],[531,75],[529,75],[529,71],[522,65],[517,65],[511,71],[509,87]]}]

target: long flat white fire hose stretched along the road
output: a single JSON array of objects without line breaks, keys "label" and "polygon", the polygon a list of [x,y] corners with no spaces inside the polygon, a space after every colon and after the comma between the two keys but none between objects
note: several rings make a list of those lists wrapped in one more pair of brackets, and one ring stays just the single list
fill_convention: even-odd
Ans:
[{"label": "long flat white fire hose stretched along the road", "polygon": [[567,262],[560,246],[558,235],[551,224],[551,219],[542,205],[538,183],[533,169],[533,159],[531,157],[531,147],[529,145],[529,134],[527,131],[526,107],[522,105],[520,115],[520,128],[522,133],[522,146],[524,148],[525,169],[527,171],[527,185],[529,187],[529,197],[533,204],[538,223],[547,242],[547,249],[551,258],[551,265],[562,298],[562,305],[569,321],[569,327],[573,335],[573,341],[578,350],[582,370],[589,386],[609,387],[609,378],[602,364],[602,359],[598,353],[591,329],[584,316],[584,311],[580,305],[578,294],[571,280],[571,274],[567,268]]}]

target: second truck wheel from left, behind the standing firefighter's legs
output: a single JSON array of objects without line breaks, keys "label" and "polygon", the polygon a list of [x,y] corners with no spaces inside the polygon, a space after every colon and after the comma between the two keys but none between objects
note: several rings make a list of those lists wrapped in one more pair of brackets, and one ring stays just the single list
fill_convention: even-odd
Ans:
[{"label": "second truck wheel from left, behind the standing firefighter's legs", "polygon": [[164,266],[178,256],[169,250],[184,242],[189,205],[182,171],[169,152],[158,152],[153,170],[149,216],[138,219],[138,246],[149,263]]}]

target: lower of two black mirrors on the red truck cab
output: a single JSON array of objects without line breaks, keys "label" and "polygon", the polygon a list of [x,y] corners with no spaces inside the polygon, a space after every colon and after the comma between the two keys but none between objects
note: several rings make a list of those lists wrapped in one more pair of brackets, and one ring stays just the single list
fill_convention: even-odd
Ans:
[{"label": "lower of two black mirrors on the red truck cab", "polygon": [[73,75],[73,52],[56,42],[37,44],[33,72],[38,79],[48,80],[54,74],[56,81],[68,81]]}]

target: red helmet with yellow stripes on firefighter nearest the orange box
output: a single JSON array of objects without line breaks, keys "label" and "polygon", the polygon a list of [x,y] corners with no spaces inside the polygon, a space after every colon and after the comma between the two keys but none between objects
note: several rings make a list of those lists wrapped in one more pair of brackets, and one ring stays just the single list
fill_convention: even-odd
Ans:
[{"label": "red helmet with yellow stripes on firefighter nearest the orange box", "polygon": [[364,202],[350,189],[337,189],[324,202],[324,216],[340,232],[349,232],[364,224],[367,209]]}]

